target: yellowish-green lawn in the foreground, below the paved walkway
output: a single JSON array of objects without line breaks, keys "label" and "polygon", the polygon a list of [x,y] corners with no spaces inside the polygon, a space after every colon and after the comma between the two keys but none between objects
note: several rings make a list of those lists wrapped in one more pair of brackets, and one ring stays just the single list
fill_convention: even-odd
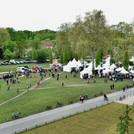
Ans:
[{"label": "yellowish-green lawn in the foreground, below the paved walkway", "polygon": [[[80,113],[47,125],[23,132],[24,134],[119,134],[116,125],[119,116],[125,111],[125,105],[111,103],[90,111]],[[129,127],[130,133],[134,133],[134,112]]]}]

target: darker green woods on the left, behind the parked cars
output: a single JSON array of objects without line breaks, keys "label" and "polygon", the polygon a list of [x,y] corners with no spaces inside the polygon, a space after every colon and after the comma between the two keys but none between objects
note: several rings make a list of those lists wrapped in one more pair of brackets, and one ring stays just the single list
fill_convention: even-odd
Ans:
[{"label": "darker green woods on the left, behind the parked cars", "polygon": [[[33,32],[28,30],[16,31],[13,28],[0,28],[0,58],[11,59],[28,56],[39,61],[41,59],[44,60],[48,57],[50,50],[45,48],[40,50],[40,44],[42,42],[55,43],[55,38],[56,32],[49,29]],[[32,55],[35,54],[35,51],[38,56]],[[40,59],[41,53],[44,55],[44,58]]]}]

